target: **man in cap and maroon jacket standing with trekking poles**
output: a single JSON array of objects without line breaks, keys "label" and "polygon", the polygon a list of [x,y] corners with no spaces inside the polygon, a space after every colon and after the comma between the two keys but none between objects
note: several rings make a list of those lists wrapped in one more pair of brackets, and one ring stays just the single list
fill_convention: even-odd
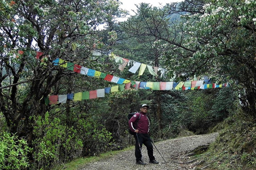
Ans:
[{"label": "man in cap and maroon jacket standing with trekking poles", "polygon": [[153,155],[153,145],[148,135],[150,122],[148,120],[147,112],[149,106],[143,104],[140,108],[140,112],[135,113],[129,120],[129,128],[135,132],[135,157],[136,164],[146,165],[142,161],[141,147],[142,143],[147,147],[149,163],[158,164]]}]

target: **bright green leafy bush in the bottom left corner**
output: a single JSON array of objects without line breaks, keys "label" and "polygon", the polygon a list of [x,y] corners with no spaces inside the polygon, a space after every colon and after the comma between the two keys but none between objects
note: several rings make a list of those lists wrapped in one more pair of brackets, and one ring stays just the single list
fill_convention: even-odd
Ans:
[{"label": "bright green leafy bush in the bottom left corner", "polygon": [[26,169],[30,148],[27,141],[3,131],[0,135],[0,169]]}]

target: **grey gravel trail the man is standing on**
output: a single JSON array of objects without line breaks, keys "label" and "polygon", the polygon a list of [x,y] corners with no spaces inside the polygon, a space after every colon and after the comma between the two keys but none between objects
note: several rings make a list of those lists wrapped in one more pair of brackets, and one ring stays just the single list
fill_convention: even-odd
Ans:
[{"label": "grey gravel trail the man is standing on", "polygon": [[[147,165],[136,165],[134,149],[120,152],[110,158],[100,160],[87,164],[86,166],[79,168],[79,170],[129,170],[129,169],[154,169],[154,170],[183,170],[193,169],[197,160],[189,162],[188,152],[198,148],[199,146],[205,146],[212,143],[218,133],[204,134],[204,135],[192,135],[189,137],[182,137],[177,139],[170,139],[161,142],[156,142],[155,146],[163,156],[159,155],[158,151],[154,147],[154,156],[159,164],[148,164],[147,149],[142,146],[143,162]],[[164,162],[165,160],[165,162]]]}]

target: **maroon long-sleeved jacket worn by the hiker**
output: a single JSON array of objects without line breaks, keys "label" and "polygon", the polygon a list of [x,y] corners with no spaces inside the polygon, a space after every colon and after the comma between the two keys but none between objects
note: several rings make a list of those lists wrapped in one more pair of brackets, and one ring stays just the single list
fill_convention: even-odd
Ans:
[{"label": "maroon long-sleeved jacket worn by the hiker", "polygon": [[[136,125],[136,120],[140,117],[140,120],[138,121]],[[150,122],[148,120],[148,116],[145,113],[138,112],[135,113],[132,118],[129,120],[129,128],[132,131],[135,131],[136,129],[139,130],[138,133],[148,134],[149,132],[149,125]],[[136,127],[136,129],[135,129]]]}]

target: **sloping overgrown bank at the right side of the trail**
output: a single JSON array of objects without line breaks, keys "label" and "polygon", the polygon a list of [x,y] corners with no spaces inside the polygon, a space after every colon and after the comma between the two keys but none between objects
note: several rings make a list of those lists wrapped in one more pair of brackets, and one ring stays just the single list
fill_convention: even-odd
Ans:
[{"label": "sloping overgrown bank at the right side of the trail", "polygon": [[[240,114],[241,115],[241,114]],[[256,124],[235,115],[218,124],[219,137],[199,155],[207,169],[256,169]]]}]

